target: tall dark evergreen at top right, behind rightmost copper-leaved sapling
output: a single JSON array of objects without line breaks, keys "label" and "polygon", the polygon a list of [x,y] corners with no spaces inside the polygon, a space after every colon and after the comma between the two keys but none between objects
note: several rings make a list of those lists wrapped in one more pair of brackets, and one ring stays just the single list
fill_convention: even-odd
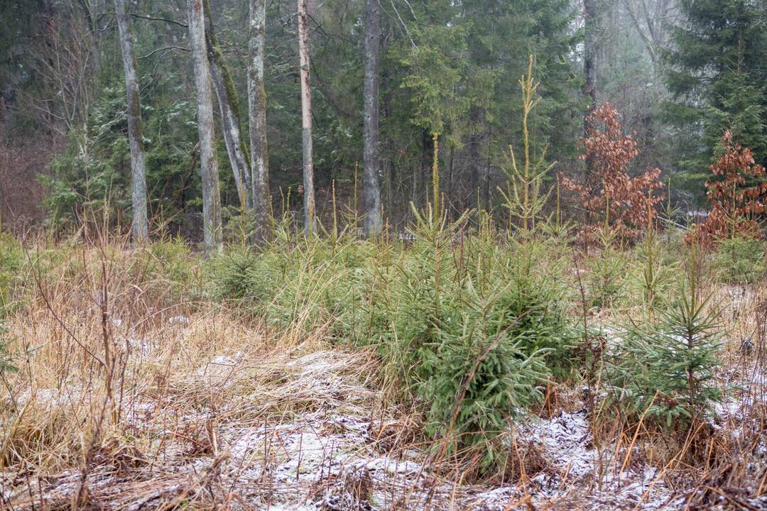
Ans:
[{"label": "tall dark evergreen at top right, behind rightmost copper-leaved sapling", "polygon": [[[726,130],[767,161],[767,4],[683,0],[665,54],[676,165],[698,192]],[[702,194],[701,194],[702,195]]]}]

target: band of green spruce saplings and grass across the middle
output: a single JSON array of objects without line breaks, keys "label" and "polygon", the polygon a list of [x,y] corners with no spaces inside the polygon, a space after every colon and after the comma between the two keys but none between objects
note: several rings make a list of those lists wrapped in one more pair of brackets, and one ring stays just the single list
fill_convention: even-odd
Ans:
[{"label": "band of green spruce saplings and grass across the middle", "polygon": [[[476,226],[468,216],[455,222],[428,210],[413,216],[405,241],[284,231],[261,248],[232,244],[209,258],[170,238],[140,247],[48,238],[12,244],[15,252],[5,254],[15,255],[3,259],[15,282],[5,295],[13,307],[0,355],[5,378],[14,388],[23,374],[8,376],[8,365],[49,356],[61,361],[50,368],[61,381],[72,382],[73,364],[84,375],[106,372],[70,337],[60,346],[14,335],[28,311],[46,310],[46,300],[64,325],[79,322],[78,340],[93,336],[84,346],[100,357],[100,336],[107,335],[115,375],[130,356],[140,356],[141,346],[132,344],[140,332],[195,311],[222,311],[232,315],[232,326],[263,329],[258,339],[281,339],[287,352],[311,339],[324,349],[374,353],[371,376],[387,406],[418,418],[413,441],[433,445],[435,460],[476,465],[471,477],[515,466],[511,424],[571,406],[566,389],[581,385],[593,390],[587,409],[606,443],[634,431],[641,431],[638,441],[657,434],[683,441],[690,431],[710,431],[700,424],[715,420],[716,404],[726,397],[715,379],[726,338],[716,303],[700,298],[702,285],[691,292],[689,279],[676,278],[685,267],[680,241],[659,233],[630,248],[591,247],[584,257],[568,237],[552,235],[558,229],[546,219],[525,232],[500,230],[487,216]],[[606,258],[621,271],[600,274]],[[721,264],[713,254],[700,254],[699,264],[699,275],[729,283],[709,271]],[[107,323],[107,334],[102,281],[107,318],[121,319]],[[709,280],[706,293],[720,283]],[[54,325],[43,339],[61,331]],[[616,325],[627,326],[603,328]],[[206,342],[222,346],[209,335],[174,349],[181,355]],[[597,342],[599,335],[606,339]],[[164,363],[147,360],[142,372],[163,382]],[[96,395],[106,395],[99,382],[87,381]],[[3,413],[13,417],[13,409]],[[617,430],[608,431],[607,418],[617,419]],[[24,434],[8,444],[15,454],[4,459],[55,442]]]}]

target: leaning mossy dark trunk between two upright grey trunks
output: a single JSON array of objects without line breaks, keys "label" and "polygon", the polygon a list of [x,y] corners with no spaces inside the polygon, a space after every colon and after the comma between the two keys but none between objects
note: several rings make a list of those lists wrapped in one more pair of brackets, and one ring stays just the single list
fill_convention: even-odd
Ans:
[{"label": "leaning mossy dark trunk between two upright grey trunks", "polygon": [[210,0],[202,0],[202,5],[205,14],[205,38],[210,76],[212,77],[213,88],[216,90],[216,99],[219,101],[219,109],[221,110],[226,152],[229,155],[229,164],[232,166],[232,173],[235,176],[235,185],[237,186],[240,205],[245,210],[250,210],[252,208],[250,157],[248,146],[245,144],[245,139],[242,138],[240,133],[237,91],[235,90],[232,75],[229,73],[229,68],[226,66],[219,41],[216,39],[212,11],[210,10]]}]

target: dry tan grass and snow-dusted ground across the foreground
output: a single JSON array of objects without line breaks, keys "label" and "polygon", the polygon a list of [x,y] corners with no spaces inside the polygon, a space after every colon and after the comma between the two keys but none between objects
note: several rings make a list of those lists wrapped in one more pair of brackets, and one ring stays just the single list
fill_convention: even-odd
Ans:
[{"label": "dry tan grass and snow-dusted ground across the foreground", "polygon": [[[718,291],[725,315],[751,314],[763,290],[733,289]],[[392,404],[370,349],[334,348],[322,330],[277,335],[222,306],[127,318],[60,291],[8,323],[35,354],[0,392],[0,509],[689,509],[701,493],[695,509],[767,509],[763,489],[728,485],[767,473],[767,373],[739,332],[707,447],[728,450],[727,470],[693,479],[662,435],[604,441],[584,388],[561,386],[509,424],[509,469],[476,483]],[[100,332],[113,339],[111,398],[87,356]]]}]

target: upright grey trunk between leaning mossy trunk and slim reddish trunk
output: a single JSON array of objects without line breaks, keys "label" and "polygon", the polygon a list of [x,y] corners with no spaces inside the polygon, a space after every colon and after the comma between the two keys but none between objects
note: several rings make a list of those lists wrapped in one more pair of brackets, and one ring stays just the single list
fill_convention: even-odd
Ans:
[{"label": "upright grey trunk between leaning mossy trunk and slim reddish trunk", "polygon": [[250,0],[250,58],[248,62],[248,108],[250,113],[251,182],[255,235],[258,241],[270,232],[269,152],[266,142],[266,0]]}]

